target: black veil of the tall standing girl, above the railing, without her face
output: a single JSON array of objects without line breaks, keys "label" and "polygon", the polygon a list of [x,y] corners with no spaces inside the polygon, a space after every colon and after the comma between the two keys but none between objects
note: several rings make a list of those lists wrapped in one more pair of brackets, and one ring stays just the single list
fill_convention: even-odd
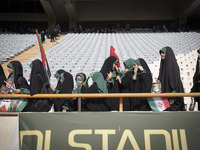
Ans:
[{"label": "black veil of the tall standing girl, above the railing, without her face", "polygon": [[162,92],[184,92],[180,77],[180,70],[173,50],[165,47],[166,56],[161,60],[158,79],[162,84]]}]

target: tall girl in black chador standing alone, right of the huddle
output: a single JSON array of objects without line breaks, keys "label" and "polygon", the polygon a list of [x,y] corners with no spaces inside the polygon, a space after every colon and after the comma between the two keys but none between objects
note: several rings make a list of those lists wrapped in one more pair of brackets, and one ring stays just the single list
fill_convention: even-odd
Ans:
[{"label": "tall girl in black chador standing alone, right of the huddle", "polygon": [[[164,93],[183,93],[183,84],[180,78],[180,70],[173,50],[164,47],[160,50],[161,62],[158,82],[161,82]],[[183,97],[168,98],[171,107],[167,111],[184,111]]]}]

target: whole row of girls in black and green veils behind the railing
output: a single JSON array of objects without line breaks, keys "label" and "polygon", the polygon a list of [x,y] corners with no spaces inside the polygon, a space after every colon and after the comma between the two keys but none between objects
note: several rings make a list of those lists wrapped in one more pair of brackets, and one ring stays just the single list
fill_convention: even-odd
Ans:
[{"label": "whole row of girls in black and green veils behind the railing", "polygon": [[[200,91],[200,50],[196,73],[194,74],[194,86],[191,92]],[[184,92],[180,78],[180,70],[173,50],[164,47],[159,51],[161,55],[158,82],[161,83],[162,92]],[[84,73],[73,76],[65,70],[58,70],[54,76],[57,79],[55,94],[64,93],[151,93],[152,74],[144,59],[128,59],[123,62],[125,69],[119,71],[117,64],[119,60],[108,57],[101,70],[86,77]],[[18,94],[40,94],[44,85],[49,84],[48,77],[40,60],[34,60],[31,67],[30,85],[23,77],[22,65],[19,61],[12,61],[8,65],[9,75],[6,79],[2,67],[0,68],[0,86],[12,87],[14,93]],[[6,82],[4,82],[6,81]],[[199,99],[197,98],[196,101]],[[55,111],[77,111],[78,98],[57,98],[54,100],[26,99],[26,103],[19,111],[41,112],[49,111],[54,106]],[[179,98],[168,98],[170,107],[166,111],[184,111],[184,100]],[[119,110],[119,98],[82,98],[82,111],[117,111]],[[151,111],[147,98],[126,97],[123,98],[124,111]]]}]

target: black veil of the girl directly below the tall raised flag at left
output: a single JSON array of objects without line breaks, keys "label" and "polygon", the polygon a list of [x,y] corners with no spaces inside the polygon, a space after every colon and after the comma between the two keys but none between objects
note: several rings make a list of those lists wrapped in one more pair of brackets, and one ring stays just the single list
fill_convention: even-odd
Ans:
[{"label": "black veil of the girl directly below the tall raised flag at left", "polygon": [[34,60],[31,63],[31,79],[30,79],[30,93],[39,94],[42,86],[48,84],[48,77],[45,73],[42,62],[39,59]]}]

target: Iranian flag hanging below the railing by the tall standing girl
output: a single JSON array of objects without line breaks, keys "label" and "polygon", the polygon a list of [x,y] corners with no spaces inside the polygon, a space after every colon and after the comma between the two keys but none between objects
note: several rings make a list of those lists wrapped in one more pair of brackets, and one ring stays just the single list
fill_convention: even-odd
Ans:
[{"label": "Iranian flag hanging below the railing by the tall standing girl", "polygon": [[161,112],[169,108],[169,101],[166,97],[148,97],[149,105],[153,111]]}]

